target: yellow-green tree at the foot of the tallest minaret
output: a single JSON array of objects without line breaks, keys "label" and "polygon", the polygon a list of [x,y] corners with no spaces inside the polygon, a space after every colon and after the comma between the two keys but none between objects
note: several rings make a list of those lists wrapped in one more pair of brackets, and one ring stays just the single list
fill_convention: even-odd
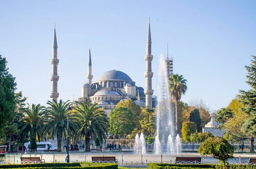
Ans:
[{"label": "yellow-green tree at the foot of the tallest minaret", "polygon": [[151,137],[154,133],[154,110],[146,108],[142,111],[142,115],[144,116],[143,120],[140,120],[142,132],[144,135]]}]

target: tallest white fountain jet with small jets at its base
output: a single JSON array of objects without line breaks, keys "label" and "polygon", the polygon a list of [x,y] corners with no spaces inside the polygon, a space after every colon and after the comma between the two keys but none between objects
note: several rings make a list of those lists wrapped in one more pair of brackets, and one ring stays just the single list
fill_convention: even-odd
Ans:
[{"label": "tallest white fountain jet with small jets at its base", "polygon": [[[157,77],[156,137],[154,153],[178,154],[181,150],[180,137],[175,134],[175,112],[172,111],[172,98],[169,94],[168,74],[163,54],[160,55]],[[163,147],[166,145],[166,149]]]}]

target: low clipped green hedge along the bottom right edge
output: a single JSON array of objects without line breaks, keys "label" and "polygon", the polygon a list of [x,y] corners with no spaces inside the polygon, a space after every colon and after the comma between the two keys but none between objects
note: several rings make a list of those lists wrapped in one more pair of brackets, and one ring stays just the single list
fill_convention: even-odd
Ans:
[{"label": "low clipped green hedge along the bottom right edge", "polygon": [[[147,169],[223,169],[219,164],[167,164],[149,163]],[[226,169],[256,169],[256,165],[227,165]]]}]

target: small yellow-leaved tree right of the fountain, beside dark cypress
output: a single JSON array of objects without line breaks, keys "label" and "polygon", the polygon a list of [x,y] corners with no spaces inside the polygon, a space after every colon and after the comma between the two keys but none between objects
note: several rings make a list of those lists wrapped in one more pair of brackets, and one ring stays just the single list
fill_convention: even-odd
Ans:
[{"label": "small yellow-leaved tree right of the fountain, beside dark cypress", "polygon": [[183,140],[188,143],[192,140],[190,139],[190,136],[192,134],[192,129],[196,132],[197,126],[194,122],[183,122],[182,123],[182,129],[181,129],[181,135]]}]

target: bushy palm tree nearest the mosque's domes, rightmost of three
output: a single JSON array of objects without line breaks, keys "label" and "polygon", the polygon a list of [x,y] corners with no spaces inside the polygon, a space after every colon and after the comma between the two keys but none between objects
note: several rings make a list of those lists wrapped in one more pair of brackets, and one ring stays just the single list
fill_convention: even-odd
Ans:
[{"label": "bushy palm tree nearest the mosque's domes, rightmost of three", "polygon": [[80,122],[78,134],[85,137],[85,151],[90,152],[90,136],[98,137],[101,142],[106,139],[105,133],[108,132],[108,119],[106,113],[96,107],[97,103],[90,106],[87,103],[79,102],[79,107],[74,107],[76,120]]}]

